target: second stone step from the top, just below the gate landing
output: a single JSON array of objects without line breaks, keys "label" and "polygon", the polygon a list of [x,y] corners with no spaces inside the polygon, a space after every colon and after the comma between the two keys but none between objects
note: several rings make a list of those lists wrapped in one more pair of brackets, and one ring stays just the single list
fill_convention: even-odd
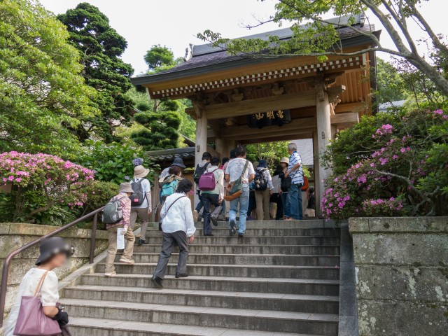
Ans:
[{"label": "second stone step from the top, just below the gate landing", "polygon": [[[215,236],[228,236],[228,225],[225,228],[216,228],[212,225]],[[202,236],[202,227],[197,228],[196,235]],[[266,237],[266,236],[339,236],[339,229],[332,228],[246,228],[247,236]],[[146,231],[146,237],[162,237],[162,232],[156,229]]]}]

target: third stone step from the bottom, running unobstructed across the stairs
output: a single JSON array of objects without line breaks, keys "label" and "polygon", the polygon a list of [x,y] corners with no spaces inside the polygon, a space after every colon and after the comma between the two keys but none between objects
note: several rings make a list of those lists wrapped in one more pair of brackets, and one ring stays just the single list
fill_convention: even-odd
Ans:
[{"label": "third stone step from the bottom, running unobstructed across the stairs", "polygon": [[339,297],[283,293],[218,292],[213,290],[156,289],[116,286],[73,286],[64,288],[64,298],[78,300],[169,304],[228,309],[300,311],[338,314]]}]

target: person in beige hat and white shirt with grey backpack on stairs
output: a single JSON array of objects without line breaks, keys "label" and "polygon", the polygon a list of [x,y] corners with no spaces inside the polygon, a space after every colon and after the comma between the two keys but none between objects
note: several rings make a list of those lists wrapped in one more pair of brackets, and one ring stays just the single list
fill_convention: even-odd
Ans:
[{"label": "person in beige hat and white shirt with grey backpack on stairs", "polygon": [[134,167],[134,179],[132,179],[132,189],[134,193],[131,195],[131,228],[134,229],[137,222],[137,216],[141,221],[139,245],[146,244],[146,230],[148,230],[148,217],[153,212],[151,202],[151,184],[146,176],[149,169],[139,165]]}]

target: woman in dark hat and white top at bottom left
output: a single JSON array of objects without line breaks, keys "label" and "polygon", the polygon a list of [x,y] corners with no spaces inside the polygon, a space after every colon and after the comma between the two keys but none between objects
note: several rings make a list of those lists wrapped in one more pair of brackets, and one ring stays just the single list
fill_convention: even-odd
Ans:
[{"label": "woman in dark hat and white top at bottom left", "polygon": [[43,278],[41,302],[43,314],[56,320],[61,327],[69,323],[69,315],[57,307],[59,291],[57,275],[53,269],[62,267],[67,258],[73,254],[73,247],[60,237],[45,239],[40,247],[41,255],[36,261],[36,268],[31,268],[20,281],[19,290],[6,322],[5,336],[13,336],[17,323],[22,296],[33,296],[39,281]]}]

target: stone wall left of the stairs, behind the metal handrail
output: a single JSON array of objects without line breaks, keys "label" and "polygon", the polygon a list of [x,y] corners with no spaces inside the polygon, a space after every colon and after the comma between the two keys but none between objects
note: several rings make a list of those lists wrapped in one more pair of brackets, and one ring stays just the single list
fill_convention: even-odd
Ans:
[{"label": "stone wall left of the stairs, behind the metal handrail", "polygon": [[[24,223],[0,223],[0,267],[3,268],[3,261],[6,256],[16,248],[23,246],[30,241],[38,239],[43,235],[56,230],[55,226],[33,225]],[[75,254],[69,260],[66,267],[57,269],[59,279],[63,279],[75,269],[85,264],[89,260],[90,253],[90,235],[91,230],[71,228],[62,232],[59,237],[73,245],[76,249]],[[101,253],[107,248],[107,232],[97,231],[97,245],[95,255]],[[11,262],[8,276],[8,292],[6,293],[6,311],[10,309],[15,293],[22,277],[31,267],[38,257],[38,246],[29,248],[18,254]],[[1,277],[1,272],[0,272]]]}]

